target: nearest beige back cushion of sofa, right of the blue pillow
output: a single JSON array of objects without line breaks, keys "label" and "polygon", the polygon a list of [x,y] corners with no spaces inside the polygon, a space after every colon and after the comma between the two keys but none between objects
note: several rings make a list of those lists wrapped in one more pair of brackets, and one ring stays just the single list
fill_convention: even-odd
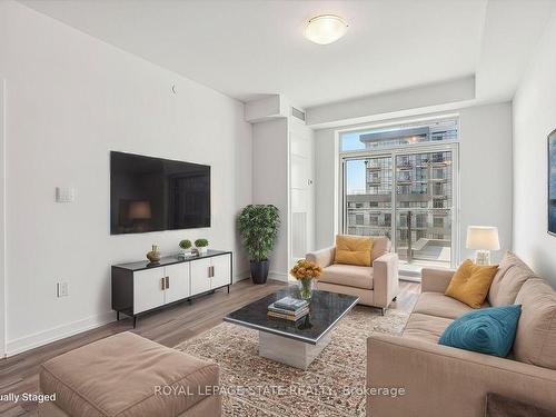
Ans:
[{"label": "nearest beige back cushion of sofa, right of the blue pillow", "polygon": [[556,292],[544,279],[530,278],[517,294],[516,304],[522,305],[516,360],[556,369]]}]

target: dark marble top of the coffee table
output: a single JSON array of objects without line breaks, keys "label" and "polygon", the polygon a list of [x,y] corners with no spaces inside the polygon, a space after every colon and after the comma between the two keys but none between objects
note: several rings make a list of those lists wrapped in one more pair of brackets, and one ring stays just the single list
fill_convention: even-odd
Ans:
[{"label": "dark marble top of the coffee table", "polygon": [[315,290],[309,314],[297,321],[267,315],[268,306],[286,296],[299,298],[296,286],[279,290],[230,312],[225,321],[316,345],[357,304],[358,297]]}]

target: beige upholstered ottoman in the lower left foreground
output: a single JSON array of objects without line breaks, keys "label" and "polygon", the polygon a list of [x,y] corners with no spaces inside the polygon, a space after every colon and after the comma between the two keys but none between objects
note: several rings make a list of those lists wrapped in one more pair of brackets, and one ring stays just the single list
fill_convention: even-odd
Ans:
[{"label": "beige upholstered ottoman in the lower left foreground", "polygon": [[39,416],[212,417],[218,365],[122,332],[42,364]]}]

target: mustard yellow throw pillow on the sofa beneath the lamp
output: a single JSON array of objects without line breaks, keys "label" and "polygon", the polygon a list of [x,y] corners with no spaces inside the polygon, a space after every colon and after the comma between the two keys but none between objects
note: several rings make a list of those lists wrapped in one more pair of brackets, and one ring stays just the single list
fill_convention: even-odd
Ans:
[{"label": "mustard yellow throw pillow on the sofa beneath the lamp", "polygon": [[480,308],[497,270],[497,265],[475,265],[466,259],[451,277],[445,295],[469,307]]}]

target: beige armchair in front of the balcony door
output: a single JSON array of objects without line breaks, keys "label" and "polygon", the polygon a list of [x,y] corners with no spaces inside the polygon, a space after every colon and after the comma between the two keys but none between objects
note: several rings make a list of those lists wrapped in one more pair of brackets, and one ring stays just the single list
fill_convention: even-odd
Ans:
[{"label": "beige armchair in front of the balcony door", "polygon": [[359,304],[386,308],[399,292],[398,255],[390,252],[387,237],[374,238],[370,254],[371,266],[334,264],[335,247],[307,254],[310,260],[322,267],[318,289],[359,297]]}]

